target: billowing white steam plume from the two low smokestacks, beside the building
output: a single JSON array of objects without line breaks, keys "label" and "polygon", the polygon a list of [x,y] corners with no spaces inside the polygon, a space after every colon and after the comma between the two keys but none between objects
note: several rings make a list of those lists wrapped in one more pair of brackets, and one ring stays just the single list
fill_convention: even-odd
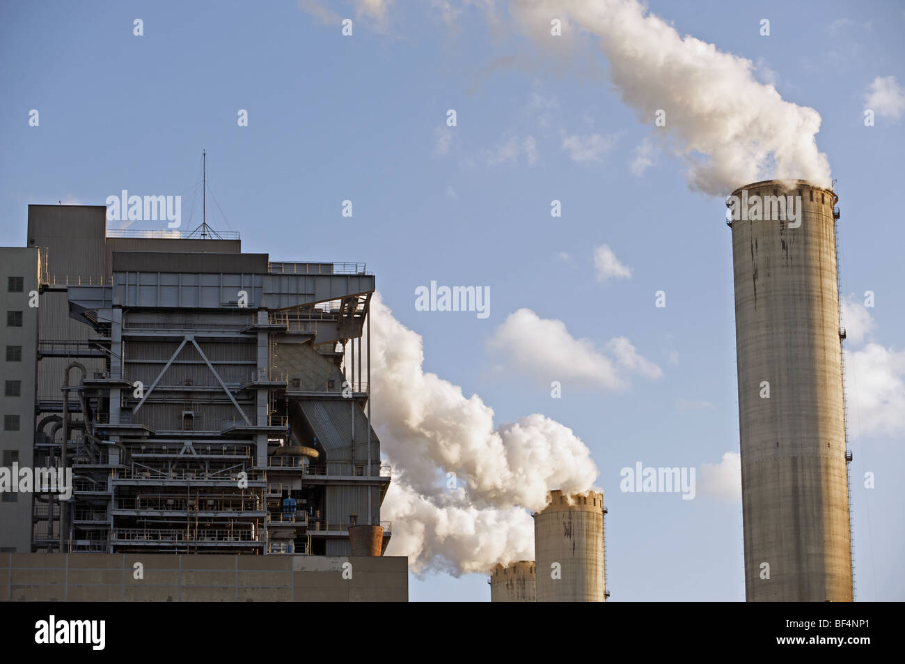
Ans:
[{"label": "billowing white steam plume from the two low smokestacks, beside the building", "polygon": [[[371,299],[373,426],[393,465],[382,517],[393,521],[387,554],[414,573],[489,573],[533,557],[528,510],[547,493],[584,492],[598,475],[571,429],[543,415],[494,426],[477,395],[424,372],[422,338]],[[450,479],[448,473],[454,473]]]}]

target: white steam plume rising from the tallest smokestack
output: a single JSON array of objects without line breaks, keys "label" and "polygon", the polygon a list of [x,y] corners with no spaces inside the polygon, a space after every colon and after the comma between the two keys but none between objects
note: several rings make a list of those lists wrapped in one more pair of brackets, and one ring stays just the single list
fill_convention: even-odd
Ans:
[{"label": "white steam plume rising from the tallest smokestack", "polygon": [[829,187],[829,162],[817,149],[820,114],[784,101],[757,82],[751,61],[712,43],[682,37],[637,0],[513,0],[510,11],[550,43],[550,21],[599,37],[613,82],[639,119],[663,128],[688,164],[692,188],[725,196],[760,179],[803,178]]}]

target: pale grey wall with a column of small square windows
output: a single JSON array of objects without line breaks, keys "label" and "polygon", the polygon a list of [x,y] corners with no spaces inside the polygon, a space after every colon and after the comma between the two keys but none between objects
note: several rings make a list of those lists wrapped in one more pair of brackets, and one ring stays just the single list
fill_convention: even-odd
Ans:
[{"label": "pale grey wall with a column of small square windows", "polygon": [[[22,277],[21,293],[9,292],[9,277]],[[0,247],[0,466],[33,467],[34,386],[37,367],[38,314],[29,292],[38,288],[38,250]],[[7,326],[6,313],[21,312],[22,327]],[[21,346],[21,361],[6,361],[6,347]],[[5,396],[6,382],[16,381],[19,396]],[[5,415],[19,418],[17,431],[5,430]],[[10,461],[6,464],[5,461]],[[0,495],[0,552],[32,550],[31,493]]]}]

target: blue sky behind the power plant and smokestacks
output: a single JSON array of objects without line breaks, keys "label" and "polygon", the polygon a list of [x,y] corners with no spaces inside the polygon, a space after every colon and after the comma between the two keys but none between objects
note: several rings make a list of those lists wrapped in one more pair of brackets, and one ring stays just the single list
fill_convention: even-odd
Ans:
[{"label": "blue sky behind the power plant and smokestacks", "polygon": [[[424,370],[480,394],[498,425],[539,412],[585,442],[609,508],[612,601],[743,600],[740,500],[618,490],[619,470],[639,460],[700,467],[738,452],[722,199],[692,191],[681,160],[662,150],[633,173],[652,123],[624,105],[593,41],[580,57],[557,58],[505,3],[497,24],[472,4],[448,23],[442,5],[397,2],[378,17],[329,4],[354,21],[343,37],[291,2],[5,3],[0,242],[24,245],[29,203],[103,205],[123,188],[186,195],[206,149],[225,214],[209,201],[208,220],[240,231],[244,251],[367,262],[396,318],[423,336]],[[905,139],[900,119],[878,114],[865,127],[862,113],[877,77],[905,82],[903,6],[649,6],[680,34],[756,63],[786,101],[822,116],[817,144],[842,210],[843,290],[876,294],[872,328],[848,350],[875,343],[887,353],[865,361],[864,371],[881,373],[857,376],[860,387],[892,381],[885,410],[850,403],[857,597],[901,601],[905,511],[894,473],[905,466],[905,415],[890,409],[905,403]],[[765,17],[768,37],[758,34]],[[38,127],[28,124],[32,109]],[[240,109],[248,127],[237,125]],[[457,126],[444,148],[447,109]],[[593,158],[581,160],[573,144]],[[340,214],[345,199],[353,217]],[[552,199],[562,217],[550,216]],[[194,227],[200,207],[189,223],[190,202],[184,196],[183,224]],[[597,280],[599,245],[631,278]],[[414,288],[431,280],[489,286],[491,315],[415,311]],[[654,307],[658,290],[665,308]],[[624,390],[566,381],[551,399],[548,381],[488,346],[520,308],[598,348],[624,336],[662,377],[633,375]],[[862,487],[865,471],[876,473],[875,488]],[[483,574],[428,573],[410,586],[413,601],[489,595]]]}]

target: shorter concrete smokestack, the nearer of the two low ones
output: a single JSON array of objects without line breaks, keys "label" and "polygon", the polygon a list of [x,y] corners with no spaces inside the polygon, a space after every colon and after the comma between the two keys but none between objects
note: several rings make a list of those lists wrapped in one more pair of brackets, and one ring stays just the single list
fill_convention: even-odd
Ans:
[{"label": "shorter concrete smokestack, the nearer of the two low ones", "polygon": [[605,601],[604,495],[551,491],[534,515],[534,558],[537,601]]}]

